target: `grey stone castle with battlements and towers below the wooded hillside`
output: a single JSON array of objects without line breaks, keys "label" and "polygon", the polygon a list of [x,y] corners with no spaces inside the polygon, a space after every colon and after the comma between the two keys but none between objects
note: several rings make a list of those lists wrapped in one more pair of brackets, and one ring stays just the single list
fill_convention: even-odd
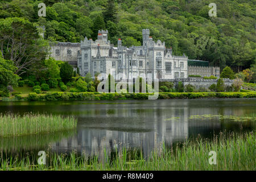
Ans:
[{"label": "grey stone castle with battlements and towers below the wooded hillside", "polygon": [[127,48],[118,39],[118,46],[114,47],[108,40],[108,30],[99,30],[95,41],[85,37],[81,43],[51,43],[50,56],[79,68],[81,76],[105,73],[117,80],[124,77],[172,80],[187,78],[188,75],[219,76],[219,68],[198,65],[199,61],[188,61],[184,54],[173,55],[172,48],[166,48],[165,42],[160,40],[155,42],[148,29],[142,30],[142,38],[142,46]]}]

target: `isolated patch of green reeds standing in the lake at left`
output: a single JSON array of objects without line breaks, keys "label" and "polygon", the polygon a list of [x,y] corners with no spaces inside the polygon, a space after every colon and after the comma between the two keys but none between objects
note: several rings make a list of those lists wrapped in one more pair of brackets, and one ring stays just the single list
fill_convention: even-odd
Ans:
[{"label": "isolated patch of green reeds standing in the lake at left", "polygon": [[77,119],[73,116],[62,117],[46,114],[0,115],[0,137],[53,133],[73,129],[76,126]]}]

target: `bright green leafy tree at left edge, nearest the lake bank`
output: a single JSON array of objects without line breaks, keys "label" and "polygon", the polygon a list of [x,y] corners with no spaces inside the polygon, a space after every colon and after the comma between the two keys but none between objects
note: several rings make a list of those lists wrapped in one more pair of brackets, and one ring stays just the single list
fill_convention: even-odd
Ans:
[{"label": "bright green leafy tree at left edge, nearest the lake bank", "polygon": [[0,91],[9,92],[7,87],[18,86],[19,76],[15,74],[18,68],[13,61],[3,59],[0,52]]}]

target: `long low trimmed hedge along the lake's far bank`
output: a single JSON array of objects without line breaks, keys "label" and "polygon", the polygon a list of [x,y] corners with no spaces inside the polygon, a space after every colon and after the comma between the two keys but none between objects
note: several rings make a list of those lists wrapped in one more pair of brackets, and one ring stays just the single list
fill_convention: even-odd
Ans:
[{"label": "long low trimmed hedge along the lake's far bank", "polygon": [[[30,93],[17,96],[27,101],[64,101],[64,100],[148,100],[152,93],[97,93],[97,92],[48,92]],[[22,97],[22,98],[20,98]],[[160,92],[158,99],[173,98],[255,98],[256,92]]]}]

